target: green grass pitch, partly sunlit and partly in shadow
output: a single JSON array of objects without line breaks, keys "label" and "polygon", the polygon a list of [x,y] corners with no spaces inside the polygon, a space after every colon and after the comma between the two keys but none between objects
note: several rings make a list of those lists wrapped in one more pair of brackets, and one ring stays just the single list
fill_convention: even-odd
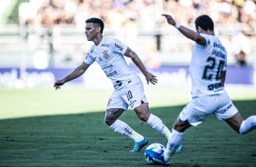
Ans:
[{"label": "green grass pitch, partly sunlit and partly in shadow", "polygon": [[[233,103],[247,118],[256,113],[256,88],[227,87]],[[133,140],[114,133],[104,123],[104,110],[112,90],[81,87],[0,88],[0,166],[157,166],[141,152],[130,152]],[[188,88],[146,89],[151,112],[171,129],[191,99]],[[133,111],[120,118],[150,143],[167,140]],[[209,116],[189,129],[183,150],[171,166],[256,166],[256,132],[235,133]],[[161,165],[158,165],[161,166]]]}]

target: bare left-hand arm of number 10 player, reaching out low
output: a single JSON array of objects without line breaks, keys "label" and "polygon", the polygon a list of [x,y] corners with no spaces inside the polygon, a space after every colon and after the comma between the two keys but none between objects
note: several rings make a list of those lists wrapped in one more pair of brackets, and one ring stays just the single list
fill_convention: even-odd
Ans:
[{"label": "bare left-hand arm of number 10 player, reaching out low", "polygon": [[72,72],[72,74],[67,75],[64,79],[62,80],[58,80],[54,83],[54,88],[55,90],[60,89],[61,86],[64,83],[67,83],[71,80],[74,80],[75,78],[81,76],[82,74],[84,74],[84,72],[88,69],[88,67],[90,66],[90,64],[81,64],[79,65],[77,68],[75,68],[74,72]]}]

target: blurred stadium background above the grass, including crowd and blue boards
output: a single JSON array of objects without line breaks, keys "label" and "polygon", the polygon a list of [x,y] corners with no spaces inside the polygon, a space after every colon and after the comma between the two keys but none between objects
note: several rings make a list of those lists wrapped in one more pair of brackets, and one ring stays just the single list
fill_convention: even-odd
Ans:
[{"label": "blurred stadium background above the grass, including crowd and blue boards", "polygon": [[[161,14],[194,30],[198,15],[210,15],[228,50],[227,84],[256,85],[256,1],[253,0],[7,0],[0,7],[0,86],[49,87],[84,61],[93,44],[84,21],[100,17],[103,35],[130,46],[156,74],[156,87],[190,86],[192,41]],[[128,60],[129,62],[129,60]],[[130,63],[130,62],[129,62]],[[131,64],[131,68],[137,68]],[[97,64],[72,83],[112,89]]]}]

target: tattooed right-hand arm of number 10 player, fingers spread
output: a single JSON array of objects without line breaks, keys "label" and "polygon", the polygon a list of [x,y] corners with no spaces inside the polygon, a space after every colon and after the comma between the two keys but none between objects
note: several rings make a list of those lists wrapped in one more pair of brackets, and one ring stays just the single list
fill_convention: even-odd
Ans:
[{"label": "tattooed right-hand arm of number 10 player, fingers spread", "polygon": [[141,61],[141,59],[139,58],[139,56],[133,52],[132,49],[130,49],[129,47],[126,49],[125,51],[125,56],[130,57],[133,60],[133,63],[137,65],[137,67],[141,70],[141,72],[145,75],[146,81],[147,83],[157,83],[157,79],[156,76],[149,73],[145,66],[143,65],[143,62]]}]

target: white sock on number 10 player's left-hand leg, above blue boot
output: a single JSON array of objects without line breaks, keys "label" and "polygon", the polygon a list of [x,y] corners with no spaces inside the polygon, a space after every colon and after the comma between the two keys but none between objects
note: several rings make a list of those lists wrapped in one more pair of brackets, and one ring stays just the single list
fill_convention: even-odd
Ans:
[{"label": "white sock on number 10 player's left-hand leg, above blue boot", "polygon": [[128,124],[120,120],[116,120],[109,127],[112,128],[115,133],[120,133],[125,136],[131,137],[135,142],[142,141],[144,138],[141,134],[133,131],[133,129]]}]

